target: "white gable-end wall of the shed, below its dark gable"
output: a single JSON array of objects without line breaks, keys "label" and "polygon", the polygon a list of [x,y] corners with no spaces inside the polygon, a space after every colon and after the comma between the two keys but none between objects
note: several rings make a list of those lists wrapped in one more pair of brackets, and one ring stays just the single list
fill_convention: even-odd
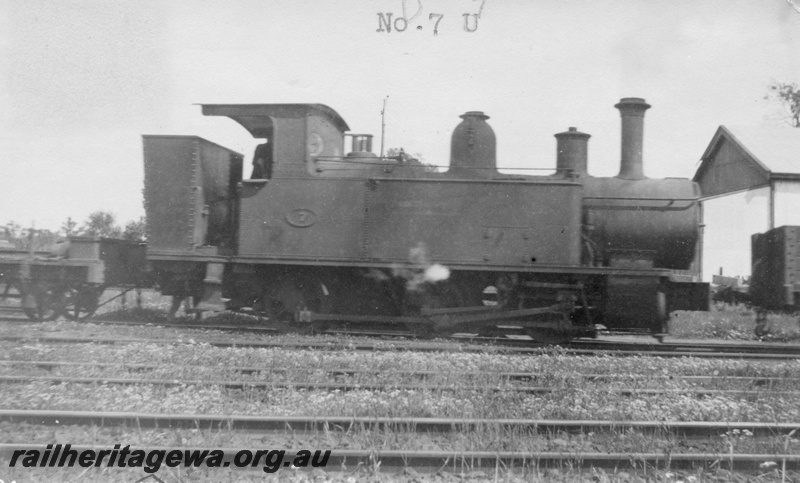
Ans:
[{"label": "white gable-end wall of the shed, below its dark gable", "polygon": [[[793,189],[797,193],[791,196],[800,196],[800,189]],[[713,275],[719,274],[720,267],[726,276],[750,276],[750,236],[769,229],[769,187],[731,193],[702,203],[703,281],[710,282]]]}]

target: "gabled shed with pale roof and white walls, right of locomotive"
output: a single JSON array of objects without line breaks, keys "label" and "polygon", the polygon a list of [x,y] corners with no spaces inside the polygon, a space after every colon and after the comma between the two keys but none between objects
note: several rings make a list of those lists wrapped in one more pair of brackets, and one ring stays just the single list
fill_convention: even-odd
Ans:
[{"label": "gabled shed with pale roof and white walls, right of locomotive", "polygon": [[720,126],[701,158],[703,278],[750,273],[750,236],[800,225],[800,129]]}]

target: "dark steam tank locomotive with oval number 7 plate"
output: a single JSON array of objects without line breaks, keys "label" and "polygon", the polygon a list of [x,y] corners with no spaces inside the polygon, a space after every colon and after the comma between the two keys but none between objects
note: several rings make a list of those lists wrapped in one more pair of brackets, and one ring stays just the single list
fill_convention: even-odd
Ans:
[{"label": "dark steam tank locomotive with oval number 7 plate", "polygon": [[[685,275],[697,186],[642,170],[643,99],[622,99],[618,176],[587,173],[589,135],[556,134],[556,174],[497,171],[482,112],[462,115],[450,168],[371,153],[321,104],[203,105],[255,138],[243,156],[193,136],[144,136],[148,261],[162,292],[297,328],[526,334],[660,332],[707,310]],[[352,152],[344,154],[345,139]],[[177,304],[173,304],[177,309]]]}]

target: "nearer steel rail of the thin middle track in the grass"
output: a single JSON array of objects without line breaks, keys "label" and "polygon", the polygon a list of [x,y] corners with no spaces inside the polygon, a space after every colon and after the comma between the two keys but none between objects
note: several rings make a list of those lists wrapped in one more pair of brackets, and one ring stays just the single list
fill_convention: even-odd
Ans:
[{"label": "nearer steel rail of the thin middle track in the grass", "polygon": [[[227,379],[142,379],[142,378],[123,378],[123,377],[73,377],[73,376],[15,376],[0,375],[0,384],[24,384],[32,382],[52,382],[52,383],[71,383],[71,384],[96,384],[96,385],[155,385],[155,386],[220,386],[227,389],[293,389],[307,391],[478,391],[478,392],[519,392],[527,394],[552,394],[559,391],[569,391],[572,388],[554,388],[545,386],[500,386],[500,385],[467,385],[467,384],[393,384],[393,383],[327,383],[327,382],[270,382],[270,381],[235,381]],[[586,389],[584,387],[584,389]],[[620,396],[658,396],[668,394],[691,394],[695,397],[701,396],[756,396],[756,397],[777,397],[792,396],[799,397],[800,391],[752,391],[746,389],[647,389],[647,388],[602,388],[604,393],[614,393]]]}]

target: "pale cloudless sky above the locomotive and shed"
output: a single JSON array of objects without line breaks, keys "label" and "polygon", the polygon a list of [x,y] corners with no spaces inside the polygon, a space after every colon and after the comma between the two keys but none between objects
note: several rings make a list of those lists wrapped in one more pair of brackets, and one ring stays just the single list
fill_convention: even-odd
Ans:
[{"label": "pale cloudless sky above the locomotive and shed", "polygon": [[439,165],[466,111],[501,168],[553,168],[575,126],[614,176],[613,106],[643,97],[645,174],[692,177],[719,125],[784,124],[773,80],[800,83],[786,0],[0,0],[0,224],[143,215],[143,134],[249,164],[257,141],[197,104],[326,104],[378,150],[386,99],[386,147]]}]

